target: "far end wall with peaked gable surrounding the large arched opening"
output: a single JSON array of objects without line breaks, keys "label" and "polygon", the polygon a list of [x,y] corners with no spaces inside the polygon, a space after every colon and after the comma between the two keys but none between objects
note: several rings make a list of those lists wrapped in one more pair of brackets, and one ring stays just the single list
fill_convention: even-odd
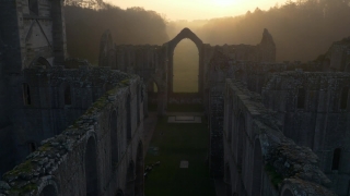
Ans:
[{"label": "far end wall with peaked gable surrounding the large arched opening", "polygon": [[[195,42],[199,53],[199,85],[198,98],[189,99],[182,97],[185,102],[206,102],[206,84],[207,76],[210,74],[210,61],[214,58],[214,51],[221,51],[224,56],[231,58],[234,62],[256,61],[256,62],[275,62],[276,46],[272,36],[267,29],[264,29],[260,44],[257,46],[248,45],[224,45],[210,46],[203,44],[196,34],[189,28],[184,28],[172,40],[162,46],[132,46],[132,45],[115,45],[113,42],[110,32],[106,30],[101,37],[100,47],[100,66],[109,66],[126,73],[138,74],[144,78],[145,84],[156,84],[159,96],[156,101],[159,105],[159,114],[164,114],[166,105],[177,101],[178,94],[173,93],[173,54],[176,45],[188,38]],[[209,71],[210,70],[210,71]],[[149,88],[149,86],[148,86]],[[260,88],[260,87],[258,87]],[[153,99],[150,99],[152,101]]]}]

